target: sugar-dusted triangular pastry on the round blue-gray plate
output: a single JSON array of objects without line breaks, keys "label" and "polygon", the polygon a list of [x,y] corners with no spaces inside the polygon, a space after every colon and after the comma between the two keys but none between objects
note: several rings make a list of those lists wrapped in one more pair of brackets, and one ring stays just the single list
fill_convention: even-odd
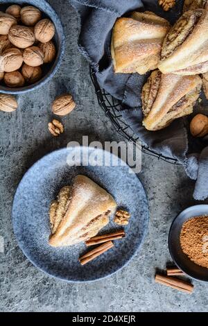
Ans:
[{"label": "sugar-dusted triangular pastry on the round blue-gray plate", "polygon": [[51,203],[51,237],[54,247],[71,246],[90,239],[109,223],[116,202],[85,175],[77,175],[72,187],[64,187]]}]

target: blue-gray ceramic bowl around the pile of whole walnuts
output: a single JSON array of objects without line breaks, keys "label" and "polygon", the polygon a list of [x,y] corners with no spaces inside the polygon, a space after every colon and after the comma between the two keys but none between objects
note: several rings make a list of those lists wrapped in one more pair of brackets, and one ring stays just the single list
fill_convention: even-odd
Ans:
[{"label": "blue-gray ceramic bowl around the pile of whole walnuts", "polygon": [[24,87],[18,88],[10,88],[6,87],[5,85],[0,85],[0,92],[6,94],[21,94],[26,92],[31,92],[34,89],[37,89],[47,83],[51,78],[53,78],[55,72],[60,67],[60,63],[62,60],[62,55],[64,54],[64,31],[62,28],[62,23],[60,22],[60,18],[58,17],[57,13],[53,8],[49,5],[49,3],[45,0],[26,0],[26,1],[19,1],[19,0],[0,0],[0,11],[5,12],[6,8],[12,4],[19,4],[19,6],[35,6],[42,11],[42,17],[48,17],[51,19],[53,24],[55,25],[55,46],[57,49],[57,55],[54,62],[49,65],[43,66],[43,76],[42,78],[33,85],[26,85]]}]

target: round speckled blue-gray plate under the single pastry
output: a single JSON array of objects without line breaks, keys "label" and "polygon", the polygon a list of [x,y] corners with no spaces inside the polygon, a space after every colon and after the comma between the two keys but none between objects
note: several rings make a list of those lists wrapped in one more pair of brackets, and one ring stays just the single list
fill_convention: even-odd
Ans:
[{"label": "round speckled blue-gray plate under the single pastry", "polygon": [[[87,156],[92,153],[92,148],[81,149]],[[116,167],[69,166],[69,151],[69,148],[63,148],[46,155],[24,175],[13,202],[13,227],[19,247],[35,266],[61,280],[90,282],[115,273],[135,255],[148,227],[148,201],[139,178],[129,173],[130,168],[124,162],[123,166]],[[103,153],[101,149],[96,151]],[[105,152],[105,155],[111,162],[115,158],[109,152]],[[120,159],[119,162],[121,164]],[[125,239],[115,241],[114,248],[85,266],[78,261],[78,257],[86,252],[84,243],[64,248],[53,248],[48,243],[51,200],[64,185],[71,185],[77,174],[92,178],[114,196],[119,207],[124,207],[132,215],[129,225],[125,227]],[[116,225],[111,218],[102,232],[114,230]]]}]

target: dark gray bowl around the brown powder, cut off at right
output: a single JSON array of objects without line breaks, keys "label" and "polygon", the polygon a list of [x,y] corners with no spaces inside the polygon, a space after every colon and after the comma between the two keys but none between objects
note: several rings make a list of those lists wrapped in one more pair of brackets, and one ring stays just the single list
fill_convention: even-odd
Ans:
[{"label": "dark gray bowl around the brown powder, cut off at right", "polygon": [[196,205],[184,209],[173,221],[169,233],[169,250],[175,264],[187,275],[196,280],[208,282],[208,269],[196,265],[182,252],[180,247],[180,232],[184,222],[194,216],[208,216],[208,205]]}]

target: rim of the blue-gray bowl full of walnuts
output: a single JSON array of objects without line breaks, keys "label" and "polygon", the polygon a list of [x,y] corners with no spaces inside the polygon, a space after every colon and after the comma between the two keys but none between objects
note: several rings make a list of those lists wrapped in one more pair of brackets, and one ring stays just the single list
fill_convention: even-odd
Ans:
[{"label": "rim of the blue-gray bowl full of walnuts", "polygon": [[[55,59],[55,62],[53,62],[53,65],[51,66],[51,69],[50,71],[48,71],[46,73],[45,76],[43,76],[41,78],[41,80],[37,81],[37,83],[34,83],[32,85],[27,85],[25,87],[17,87],[17,88],[9,88],[9,87],[6,87],[6,86],[2,86],[0,85],[0,93],[3,93],[3,94],[24,94],[24,93],[28,93],[28,92],[33,92],[35,89],[38,89],[40,87],[42,87],[43,85],[45,85],[46,83],[49,82],[49,80],[51,80],[51,78],[53,78],[53,76],[55,75],[55,73],[58,71],[58,68],[60,67],[60,64],[62,62],[62,57],[64,55],[64,50],[65,50],[65,36],[64,36],[64,29],[63,29],[63,26],[62,26],[62,22],[57,14],[57,12],[55,12],[55,10],[53,9],[53,7],[48,3],[48,1],[46,0],[41,0],[42,3],[44,3],[46,5],[46,8],[49,8],[50,11],[53,13],[53,18],[51,17],[51,20],[53,21],[53,24],[55,25],[55,28],[57,28],[57,26],[59,26],[60,30],[62,31],[62,35],[61,37],[59,37],[59,40],[60,40],[60,44],[57,44],[58,46],[58,55]],[[28,5],[31,4],[31,6],[33,5],[32,3],[30,3],[30,0],[0,0],[0,5],[3,5],[3,4],[6,4],[6,3],[28,3]],[[37,6],[37,8],[40,8],[38,7],[38,5],[33,5],[33,6]],[[42,10],[40,8],[40,10],[42,12],[44,12],[44,14],[46,16],[49,16],[46,12],[46,10]]]}]

